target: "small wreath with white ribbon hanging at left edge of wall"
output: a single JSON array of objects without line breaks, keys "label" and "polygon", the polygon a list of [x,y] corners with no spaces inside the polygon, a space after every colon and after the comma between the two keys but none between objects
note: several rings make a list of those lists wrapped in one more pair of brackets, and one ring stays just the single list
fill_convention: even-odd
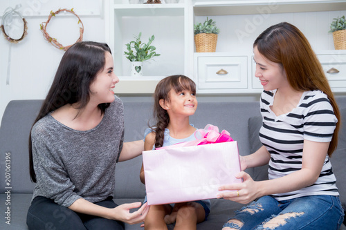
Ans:
[{"label": "small wreath with white ribbon hanging at left edge of wall", "polygon": [[[6,77],[6,85],[10,84],[10,75],[11,75],[11,54],[12,54],[12,44],[17,44],[19,41],[23,40],[26,35],[28,35],[28,22],[24,19],[23,15],[21,15],[17,10],[21,8],[21,4],[18,4],[15,8],[9,7],[3,12],[3,17],[1,19],[1,30],[3,32],[3,36],[7,41],[10,41],[10,46],[8,46],[8,64],[7,64],[7,77]],[[8,32],[5,30],[6,27],[10,27],[12,24],[12,15],[17,15],[21,18],[24,23],[23,26],[23,34],[19,39],[14,39],[8,35]]]}]

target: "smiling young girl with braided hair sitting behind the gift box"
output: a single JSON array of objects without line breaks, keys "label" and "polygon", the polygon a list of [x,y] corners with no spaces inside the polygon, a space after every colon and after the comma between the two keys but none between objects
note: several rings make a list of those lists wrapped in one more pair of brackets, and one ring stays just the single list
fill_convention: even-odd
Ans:
[{"label": "smiling young girl with braided hair sitting behind the gift box", "polygon": [[[183,75],[166,77],[158,82],[154,92],[156,125],[145,132],[145,151],[179,142],[195,140],[196,128],[189,123],[197,109],[196,86]],[[192,162],[193,163],[193,162]],[[140,180],[145,184],[143,165]],[[152,205],[145,218],[145,229],[197,229],[210,212],[210,200],[179,204]]]}]

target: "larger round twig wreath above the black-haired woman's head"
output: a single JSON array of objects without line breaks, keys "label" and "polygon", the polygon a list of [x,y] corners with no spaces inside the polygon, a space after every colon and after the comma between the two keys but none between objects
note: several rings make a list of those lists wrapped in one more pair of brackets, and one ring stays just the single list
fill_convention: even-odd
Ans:
[{"label": "larger round twig wreath above the black-haired woman's head", "polygon": [[[75,17],[78,17],[78,15],[73,11],[73,8],[71,10],[67,10],[67,9],[59,9],[55,12],[53,12],[53,10],[51,11],[51,14],[49,14],[49,17],[48,17],[48,20],[46,22],[42,22],[42,24],[39,24],[40,28],[41,28],[41,31],[44,35],[44,38],[50,42],[53,46],[55,46],[56,48],[59,48],[60,50],[68,50],[72,45],[69,45],[69,46],[62,46],[62,44],[60,44],[57,39],[55,38],[52,38],[51,36],[49,36],[48,32],[46,32],[46,28],[47,28],[47,25],[49,23],[49,21],[51,21],[51,18],[52,17],[55,17],[55,15],[59,14],[60,12],[70,12],[71,14],[75,15]],[[80,27],[80,38],[75,41],[75,42],[79,42],[79,41],[82,41],[83,40],[83,32],[84,32],[84,25],[82,23],[82,21],[80,20],[80,17],[78,17],[78,24],[81,23],[82,24],[82,27]]]}]

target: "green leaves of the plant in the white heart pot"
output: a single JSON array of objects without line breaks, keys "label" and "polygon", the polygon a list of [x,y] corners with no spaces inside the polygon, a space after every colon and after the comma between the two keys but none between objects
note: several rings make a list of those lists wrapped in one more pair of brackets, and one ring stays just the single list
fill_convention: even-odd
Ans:
[{"label": "green leaves of the plant in the white heart pot", "polygon": [[160,56],[160,54],[154,51],[156,50],[155,46],[151,46],[155,39],[154,35],[149,37],[147,44],[140,40],[140,36],[142,36],[142,32],[139,33],[138,37],[135,37],[136,41],[130,41],[129,44],[125,45],[127,46],[127,52],[125,51],[126,58],[130,61],[147,61],[153,57]]}]

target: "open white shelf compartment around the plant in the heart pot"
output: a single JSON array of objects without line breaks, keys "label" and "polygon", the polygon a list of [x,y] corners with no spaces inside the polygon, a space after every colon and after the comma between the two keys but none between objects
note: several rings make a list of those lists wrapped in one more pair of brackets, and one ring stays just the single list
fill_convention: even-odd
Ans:
[{"label": "open white shelf compartment around the plant in the heart pot", "polygon": [[[188,66],[188,43],[185,34],[188,10],[185,3],[129,4],[109,1],[106,37],[113,57],[115,73],[120,78],[116,93],[153,93],[158,81],[167,75],[185,74]],[[143,63],[143,77],[130,77],[130,61],[125,58],[125,44],[142,32],[142,41],[155,36],[152,45],[161,54]]]}]

